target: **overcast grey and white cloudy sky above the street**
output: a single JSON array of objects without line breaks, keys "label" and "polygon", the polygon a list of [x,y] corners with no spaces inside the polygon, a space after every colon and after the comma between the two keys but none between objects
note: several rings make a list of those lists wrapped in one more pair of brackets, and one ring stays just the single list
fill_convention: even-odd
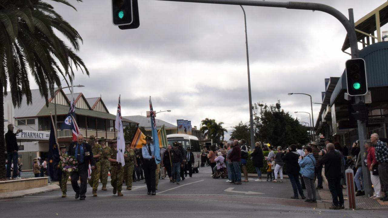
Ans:
[{"label": "overcast grey and white cloudy sky above the street", "polygon": [[[307,2],[305,0],[300,0]],[[50,2],[50,1],[48,1]],[[204,118],[225,127],[249,121],[244,16],[237,5],[139,0],[140,27],[112,24],[110,0],[69,0],[78,11],[52,3],[83,38],[79,52],[90,77],[76,74],[74,88],[86,97],[102,96],[111,113],[121,94],[123,115],[154,110],[176,125]],[[325,3],[357,21],[386,0],[310,0]],[[318,11],[245,6],[252,101],[275,104],[308,121],[310,99],[321,102],[324,78],[340,76],[349,55],[341,52],[346,31]],[[382,30],[387,30],[385,26]],[[36,85],[35,85],[36,87]],[[31,87],[31,88],[35,88]],[[314,105],[316,120],[320,105]],[[228,128],[229,132],[231,128]],[[229,134],[228,134],[229,135]]]}]

